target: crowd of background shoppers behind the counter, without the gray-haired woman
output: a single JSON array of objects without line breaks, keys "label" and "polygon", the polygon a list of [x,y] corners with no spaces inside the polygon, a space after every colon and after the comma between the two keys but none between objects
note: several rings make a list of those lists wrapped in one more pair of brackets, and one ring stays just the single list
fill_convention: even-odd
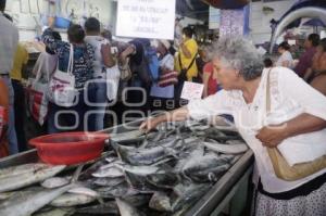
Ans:
[{"label": "crowd of background shoppers behind the counter, without the gray-haired woman", "polygon": [[[28,53],[18,42],[17,28],[3,13],[4,8],[5,1],[1,1],[1,26],[8,30],[1,33],[0,74],[9,91],[7,137],[9,152],[14,154],[27,149],[24,114],[28,107],[24,99],[26,92],[22,72],[28,62]],[[125,111],[141,111],[138,117],[145,117],[151,112],[180,107],[188,103],[180,98],[185,81],[203,84],[202,98],[225,88],[210,54],[214,46],[198,45],[191,27],[183,28],[177,41],[134,39],[121,42],[113,40],[112,34],[101,28],[99,20],[89,17],[84,26],[72,24],[67,38],[68,41],[63,41],[50,24],[41,36],[45,51],[33,71],[46,84],[50,82],[57,71],[71,72],[74,77],[74,104],[66,106],[49,99],[47,134],[101,130],[108,125],[110,111],[117,118],[115,123],[122,123]],[[292,68],[312,87],[326,94],[325,43],[326,39],[311,34],[304,42],[305,52],[296,63],[290,46],[284,41],[278,46],[278,60],[272,62],[265,59],[264,66]]]}]

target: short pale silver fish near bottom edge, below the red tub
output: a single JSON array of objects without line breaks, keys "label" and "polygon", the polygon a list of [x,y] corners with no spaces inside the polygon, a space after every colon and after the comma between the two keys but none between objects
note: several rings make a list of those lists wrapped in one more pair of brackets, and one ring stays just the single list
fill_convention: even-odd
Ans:
[{"label": "short pale silver fish near bottom edge, below the red tub", "polygon": [[90,196],[82,193],[64,193],[54,199],[50,205],[55,207],[72,207],[76,205],[84,205],[91,203],[96,200],[96,196]]}]

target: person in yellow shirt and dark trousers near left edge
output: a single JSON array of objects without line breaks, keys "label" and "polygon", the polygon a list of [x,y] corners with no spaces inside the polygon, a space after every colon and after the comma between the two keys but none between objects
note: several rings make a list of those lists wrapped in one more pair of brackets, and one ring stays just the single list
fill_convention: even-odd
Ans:
[{"label": "person in yellow shirt and dark trousers near left edge", "polygon": [[22,74],[26,69],[28,62],[28,52],[26,48],[18,43],[14,62],[13,69],[10,73],[12,87],[14,89],[14,111],[15,111],[15,130],[17,135],[18,150],[20,152],[27,150],[27,141],[25,138],[24,122],[25,122],[25,92],[22,85]]}]

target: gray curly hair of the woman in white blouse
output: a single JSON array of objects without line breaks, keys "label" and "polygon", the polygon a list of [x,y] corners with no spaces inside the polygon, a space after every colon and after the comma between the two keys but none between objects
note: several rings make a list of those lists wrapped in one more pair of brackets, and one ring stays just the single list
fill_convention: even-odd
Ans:
[{"label": "gray curly hair of the woman in white blouse", "polygon": [[249,40],[241,37],[218,39],[210,54],[211,58],[218,58],[224,66],[239,71],[244,80],[260,77],[264,68],[263,56]]}]

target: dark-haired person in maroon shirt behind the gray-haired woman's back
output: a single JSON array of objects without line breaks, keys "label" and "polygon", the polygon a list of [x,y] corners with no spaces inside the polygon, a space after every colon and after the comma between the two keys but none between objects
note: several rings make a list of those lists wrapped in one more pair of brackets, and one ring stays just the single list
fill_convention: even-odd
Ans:
[{"label": "dark-haired person in maroon shirt behind the gray-haired woman's back", "polygon": [[312,66],[313,56],[316,53],[316,47],[319,43],[319,35],[317,34],[310,34],[304,41],[304,49],[305,52],[299,59],[298,64],[294,67],[294,72],[300,76],[304,77],[305,72],[308,68]]}]

